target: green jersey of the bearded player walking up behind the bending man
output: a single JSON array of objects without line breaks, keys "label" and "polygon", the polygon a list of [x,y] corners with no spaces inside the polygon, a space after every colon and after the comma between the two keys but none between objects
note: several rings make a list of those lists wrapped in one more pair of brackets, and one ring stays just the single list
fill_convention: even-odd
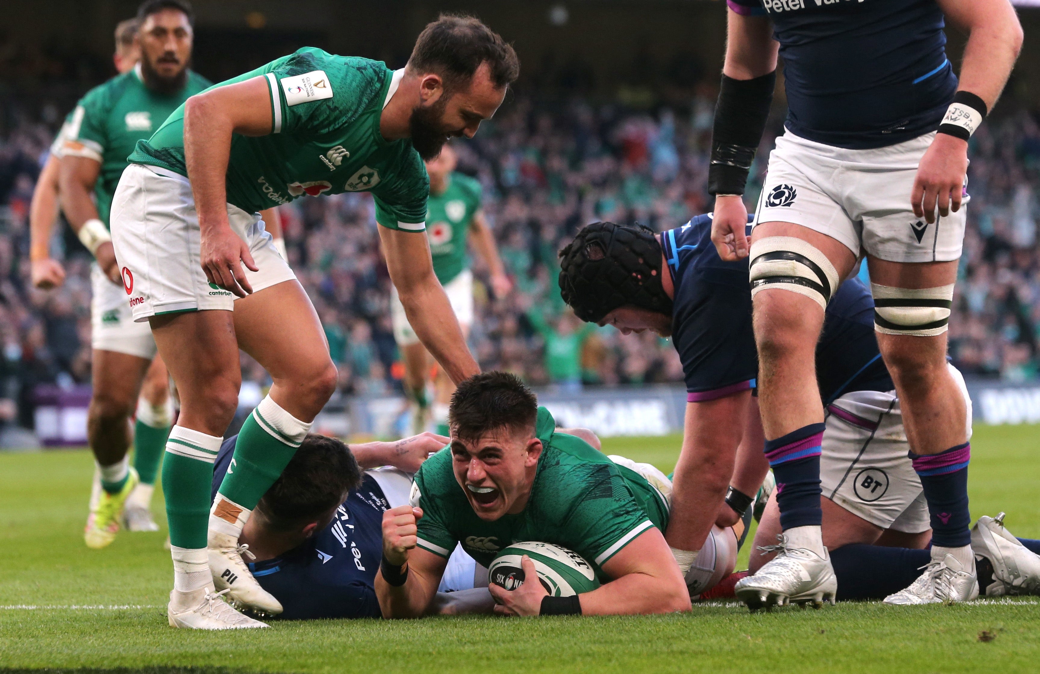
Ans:
[{"label": "green jersey of the bearded player walking up behind the bending man", "polygon": [[159,94],[145,86],[140,66],[137,66],[95,86],[80,99],[72,119],[62,126],[64,141],[60,154],[101,162],[94,193],[98,216],[105,226],[108,226],[120,176],[127,167],[127,155],[133,152],[138,140],[151,136],[189,96],[210,84],[202,75],[188,71],[187,81],[180,92]]}]

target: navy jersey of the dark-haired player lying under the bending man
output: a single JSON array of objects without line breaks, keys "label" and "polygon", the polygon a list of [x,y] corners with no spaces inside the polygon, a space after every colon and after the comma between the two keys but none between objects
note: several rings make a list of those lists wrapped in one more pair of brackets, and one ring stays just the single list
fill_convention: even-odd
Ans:
[{"label": "navy jersey of the dark-haired player lying under the bending man", "polygon": [[[228,472],[237,438],[220,445],[212,498]],[[329,526],[280,556],[249,564],[260,587],[282,602],[285,611],[279,618],[381,616],[375,573],[383,553],[383,512],[390,506],[375,479],[363,474],[361,486],[347,495]]]}]

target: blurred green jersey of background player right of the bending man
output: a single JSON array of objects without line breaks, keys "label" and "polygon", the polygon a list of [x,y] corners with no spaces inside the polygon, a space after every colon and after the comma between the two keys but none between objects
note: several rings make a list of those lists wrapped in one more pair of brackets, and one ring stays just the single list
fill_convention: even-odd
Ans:
[{"label": "blurred green jersey of background player right of the bending man", "polygon": [[469,267],[466,234],[473,215],[480,210],[480,183],[469,176],[453,173],[441,195],[431,192],[426,202],[426,236],[434,258],[434,274],[444,285]]}]

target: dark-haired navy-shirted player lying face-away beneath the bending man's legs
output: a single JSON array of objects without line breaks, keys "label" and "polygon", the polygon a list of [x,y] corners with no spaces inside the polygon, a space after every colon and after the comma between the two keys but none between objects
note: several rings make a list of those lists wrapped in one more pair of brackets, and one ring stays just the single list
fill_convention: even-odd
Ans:
[{"label": "dark-haired navy-shirted player lying face-away beneath the bending man's legs", "polygon": [[[213,464],[213,499],[236,438],[224,441]],[[380,617],[374,580],[383,513],[408,503],[412,474],[447,442],[430,433],[350,447],[323,436],[304,438],[239,537],[253,576],[282,604],[281,618]],[[457,550],[433,611],[490,612],[494,602],[487,590],[466,592],[480,578],[486,586],[487,569]]]}]

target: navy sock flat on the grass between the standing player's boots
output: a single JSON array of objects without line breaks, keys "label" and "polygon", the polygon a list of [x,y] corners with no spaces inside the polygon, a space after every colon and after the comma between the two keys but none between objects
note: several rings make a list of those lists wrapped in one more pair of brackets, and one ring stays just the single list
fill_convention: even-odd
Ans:
[{"label": "navy sock flat on the grass between the standing player's boots", "polygon": [[884,599],[907,588],[932,561],[929,550],[854,543],[831,550],[838,601]]}]

